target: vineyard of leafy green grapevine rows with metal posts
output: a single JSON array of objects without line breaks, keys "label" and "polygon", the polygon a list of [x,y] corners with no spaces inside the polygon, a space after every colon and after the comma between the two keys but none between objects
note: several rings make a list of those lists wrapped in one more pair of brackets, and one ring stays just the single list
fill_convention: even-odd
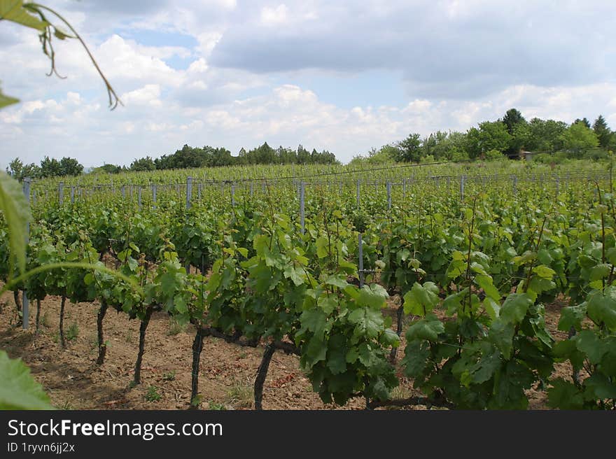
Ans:
[{"label": "vineyard of leafy green grapevine rows with metal posts", "polygon": [[[280,362],[327,407],[527,409],[539,397],[615,409],[611,169],[487,164],[26,183],[30,274],[15,276],[2,225],[0,277],[14,293],[2,315],[36,336],[54,302],[61,363],[78,308],[96,330],[91,363],[105,369],[118,357],[106,327],[117,311],[139,324],[125,390],[150,371],[144,355],[165,350],[160,360],[190,365],[176,407],[204,407],[204,360],[249,353],[255,409],[271,406],[267,384],[284,383]],[[188,341],[155,323],[166,316]]]}]

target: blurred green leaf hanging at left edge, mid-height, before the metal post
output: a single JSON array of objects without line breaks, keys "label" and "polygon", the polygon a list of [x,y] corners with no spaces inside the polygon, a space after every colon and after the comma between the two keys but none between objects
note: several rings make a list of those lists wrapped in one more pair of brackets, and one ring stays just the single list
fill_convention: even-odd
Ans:
[{"label": "blurred green leaf hanging at left edge, mid-height, before the metal post", "polygon": [[0,211],[8,226],[11,257],[18,262],[20,271],[26,269],[26,229],[30,208],[20,184],[6,172],[0,171]]}]

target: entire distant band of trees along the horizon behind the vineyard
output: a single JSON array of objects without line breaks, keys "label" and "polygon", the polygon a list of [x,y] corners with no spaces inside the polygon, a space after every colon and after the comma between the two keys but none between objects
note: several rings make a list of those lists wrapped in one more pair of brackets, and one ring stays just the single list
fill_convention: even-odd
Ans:
[{"label": "entire distant band of trees along the horizon behind the vineyard", "polygon": [[[438,131],[423,138],[420,134],[411,133],[406,139],[356,155],[351,164],[491,160],[519,157],[524,151],[539,153],[538,160],[560,162],[571,157],[601,159],[615,147],[616,132],[612,132],[602,115],[598,115],[592,124],[586,118],[578,118],[569,125],[563,121],[540,118],[527,121],[516,108],[511,108],[503,118],[481,122],[467,132]],[[272,148],[265,142],[252,150],[241,148],[237,156],[223,147],[184,145],[175,153],[155,159],[150,156],[137,158],[128,167],[104,164],[90,172],[118,174],[122,171],[243,164],[339,164],[339,161],[328,150],[309,151],[301,145],[293,150],[282,146]],[[25,177],[76,176],[83,174],[84,167],[71,157],[63,157],[62,160],[45,157],[41,164],[24,164],[15,158],[6,171],[21,180]]]}]

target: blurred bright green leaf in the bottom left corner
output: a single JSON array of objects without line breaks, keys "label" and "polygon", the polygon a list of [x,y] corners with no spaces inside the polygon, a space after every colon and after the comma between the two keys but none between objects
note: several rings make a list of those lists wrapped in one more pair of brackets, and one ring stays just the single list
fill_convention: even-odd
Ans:
[{"label": "blurred bright green leaf in the bottom left corner", "polygon": [[55,409],[20,359],[0,351],[0,409]]}]

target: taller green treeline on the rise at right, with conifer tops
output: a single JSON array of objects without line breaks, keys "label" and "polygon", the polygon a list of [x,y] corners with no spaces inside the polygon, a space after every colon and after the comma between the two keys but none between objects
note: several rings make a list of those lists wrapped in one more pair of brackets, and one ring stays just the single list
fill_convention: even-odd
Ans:
[{"label": "taller green treeline on the rise at right, with conifer tops", "polygon": [[467,132],[438,131],[423,138],[410,134],[402,141],[358,155],[351,163],[517,158],[524,151],[545,153],[549,160],[554,160],[601,157],[615,147],[616,132],[612,132],[602,115],[592,125],[586,118],[568,125],[540,118],[527,121],[516,108],[511,108],[503,118],[481,122]]}]

